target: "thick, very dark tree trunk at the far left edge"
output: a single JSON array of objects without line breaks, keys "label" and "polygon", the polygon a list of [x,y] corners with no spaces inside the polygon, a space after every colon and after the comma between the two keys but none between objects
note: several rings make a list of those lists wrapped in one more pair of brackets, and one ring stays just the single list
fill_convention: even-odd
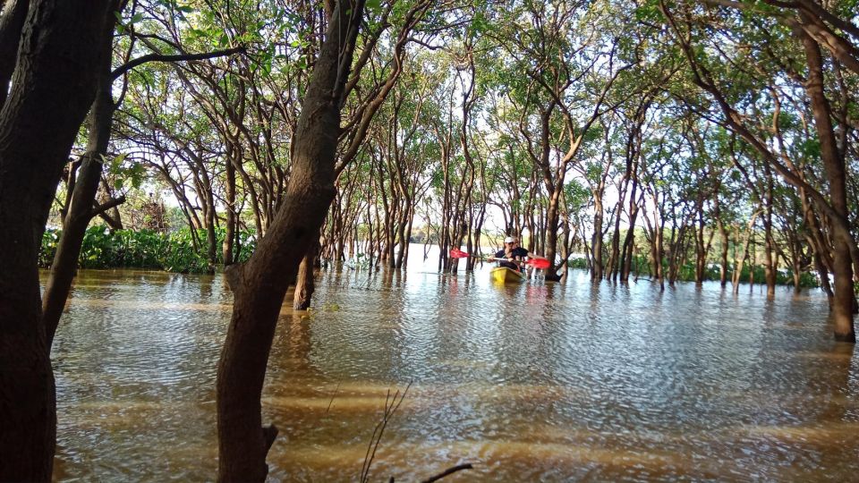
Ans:
[{"label": "thick, very dark tree trunk at the far left edge", "polygon": [[[107,0],[36,0],[0,111],[0,481],[50,481],[54,373],[38,248],[63,165],[92,103]],[[5,40],[4,40],[5,41]]]}]

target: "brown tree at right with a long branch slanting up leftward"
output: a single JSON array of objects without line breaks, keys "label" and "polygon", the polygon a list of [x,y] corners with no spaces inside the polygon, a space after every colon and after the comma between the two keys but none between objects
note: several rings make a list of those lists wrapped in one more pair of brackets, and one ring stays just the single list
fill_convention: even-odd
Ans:
[{"label": "brown tree at right with a long branch slanting up leftward", "polygon": [[[744,45],[756,46],[753,53],[762,59],[758,61],[759,64],[755,64],[757,73],[761,76],[774,76],[782,82],[795,82],[796,89],[804,90],[805,97],[811,105],[814,129],[820,143],[820,156],[827,177],[824,192],[828,196],[824,196],[821,191],[806,182],[804,174],[796,169],[793,160],[786,158],[779,149],[770,148],[759,130],[749,122],[748,116],[744,116],[738,110],[742,108],[742,97],[736,97],[732,90],[727,88],[725,82],[726,78],[736,78],[733,75],[734,72],[719,69],[718,65],[714,65],[714,59],[710,58],[708,51],[702,48],[702,44],[713,37],[711,33],[703,34],[700,30],[702,26],[704,30],[715,27],[708,21],[710,13],[701,15],[701,12],[688,5],[684,5],[679,12],[676,12],[674,9],[669,9],[668,5],[661,0],[659,0],[659,12],[668,22],[676,43],[687,60],[691,80],[715,101],[721,115],[719,119],[715,116],[710,119],[736,132],[758,152],[773,171],[797,190],[803,191],[804,196],[808,196],[814,207],[825,216],[826,224],[831,230],[831,241],[827,243],[826,250],[831,250],[832,253],[831,268],[835,278],[835,291],[831,302],[835,338],[838,341],[855,342],[853,313],[856,301],[853,266],[859,262],[859,248],[856,247],[849,225],[844,143],[838,142],[844,137],[843,134],[839,137],[836,132],[836,124],[833,122],[834,112],[825,93],[824,64],[821,44],[818,43],[821,37],[810,32],[809,26],[813,25],[814,21],[810,13],[805,11],[799,13],[799,21],[777,12],[774,15],[777,22],[774,23],[754,21],[751,20],[753,15],[737,15],[736,12],[731,11],[734,8],[740,11],[757,8],[753,4],[734,2],[719,2],[719,4],[727,4],[729,7],[728,12],[723,12],[719,17],[725,20],[719,25],[719,30],[725,32],[727,38],[731,39],[736,35],[745,34]],[[760,13],[770,12],[772,12],[771,9],[764,9]],[[746,21],[746,19],[750,20]],[[786,31],[778,21],[785,22],[791,30]],[[834,21],[838,21],[838,17],[834,17]],[[726,30],[727,25],[733,27],[733,32]],[[796,47],[795,50],[790,55],[774,53],[770,47],[774,38],[791,42]],[[835,41],[838,45],[842,45],[840,43],[842,40],[845,39],[839,38]],[[759,42],[761,45],[757,47]],[[749,47],[736,50],[736,55],[740,57],[738,59],[727,55],[726,49],[722,47],[711,52],[716,52],[717,58],[723,64],[730,64],[736,68],[736,71],[747,73],[743,63],[749,62]],[[849,56],[843,56],[837,52],[833,52],[833,55],[838,62],[850,65]],[[801,60],[802,57],[804,60]],[[763,61],[767,61],[766,64]],[[838,66],[838,62],[833,64]],[[745,79],[754,80],[754,76],[747,75]],[[840,120],[838,129],[845,133],[849,129],[849,124],[845,123],[845,116],[842,115],[840,119],[836,117],[836,120],[836,122]]]}]

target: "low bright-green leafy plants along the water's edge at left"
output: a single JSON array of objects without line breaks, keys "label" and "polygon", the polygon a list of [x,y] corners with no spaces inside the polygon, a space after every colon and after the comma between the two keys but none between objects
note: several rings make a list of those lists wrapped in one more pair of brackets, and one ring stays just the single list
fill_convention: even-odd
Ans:
[{"label": "low bright-green leafy plants along the water's edge at left", "polygon": [[[219,229],[217,246],[224,242],[225,231]],[[38,255],[39,267],[50,267],[54,260],[59,230],[46,230],[42,237],[42,249]],[[199,240],[205,243],[206,232],[198,230]],[[240,261],[250,258],[256,249],[254,233],[240,234]],[[221,250],[217,250],[217,264],[223,265]],[[205,249],[194,249],[191,230],[183,228],[171,233],[152,230],[109,230],[105,226],[91,226],[83,236],[81,268],[151,268],[178,273],[204,273],[209,270]]]}]

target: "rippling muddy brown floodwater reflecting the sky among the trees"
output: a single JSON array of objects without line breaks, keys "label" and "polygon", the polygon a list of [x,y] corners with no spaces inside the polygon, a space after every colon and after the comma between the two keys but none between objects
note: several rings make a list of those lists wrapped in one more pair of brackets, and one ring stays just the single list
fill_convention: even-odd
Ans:
[{"label": "rippling muddy brown floodwater reflecting the sky among the trees", "polygon": [[[420,260],[419,260],[420,261]],[[820,292],[324,271],[284,309],[271,481],[849,481],[859,359]],[[222,276],[82,271],[57,332],[58,481],[216,478]],[[411,386],[409,386],[411,385]]]}]

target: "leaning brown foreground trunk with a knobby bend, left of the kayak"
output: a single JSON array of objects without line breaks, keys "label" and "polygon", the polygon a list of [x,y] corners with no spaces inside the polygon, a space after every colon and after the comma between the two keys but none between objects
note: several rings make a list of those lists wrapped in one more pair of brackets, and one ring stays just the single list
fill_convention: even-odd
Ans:
[{"label": "leaning brown foreground trunk with a knobby bend, left of the kayak", "polygon": [[[335,194],[344,83],[363,0],[337,3],[302,105],[289,187],[268,233],[245,264],[226,271],[234,309],[217,371],[219,481],[264,481],[276,428],[262,428],[260,397],[277,317],[289,281]],[[287,250],[288,249],[288,250]]]}]

